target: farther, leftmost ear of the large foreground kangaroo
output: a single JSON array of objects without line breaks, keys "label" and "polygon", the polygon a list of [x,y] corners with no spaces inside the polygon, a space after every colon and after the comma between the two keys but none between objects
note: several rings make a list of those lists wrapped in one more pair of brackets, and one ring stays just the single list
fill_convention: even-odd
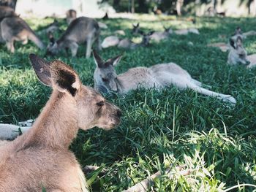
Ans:
[{"label": "farther, leftmost ear of the large foreground kangaroo", "polygon": [[35,54],[29,54],[29,60],[36,72],[38,79],[45,85],[51,86],[50,62],[39,58]]}]

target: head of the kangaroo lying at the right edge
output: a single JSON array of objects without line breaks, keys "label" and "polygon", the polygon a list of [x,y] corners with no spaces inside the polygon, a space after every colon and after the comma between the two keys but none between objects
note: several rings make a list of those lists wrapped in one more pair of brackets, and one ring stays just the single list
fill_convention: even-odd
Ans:
[{"label": "head of the kangaroo lying at the right edge", "polygon": [[249,64],[249,61],[247,61],[247,53],[243,46],[242,37],[237,36],[230,38],[230,57],[233,64]]}]

